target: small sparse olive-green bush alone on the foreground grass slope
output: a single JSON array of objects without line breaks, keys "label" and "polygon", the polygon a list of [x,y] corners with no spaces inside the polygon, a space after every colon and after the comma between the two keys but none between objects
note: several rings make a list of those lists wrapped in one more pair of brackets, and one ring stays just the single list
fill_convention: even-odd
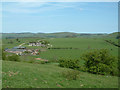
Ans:
[{"label": "small sparse olive-green bush alone on the foreground grass slope", "polygon": [[68,80],[77,80],[79,78],[80,72],[77,70],[68,70],[62,72],[63,77],[67,78]]}]

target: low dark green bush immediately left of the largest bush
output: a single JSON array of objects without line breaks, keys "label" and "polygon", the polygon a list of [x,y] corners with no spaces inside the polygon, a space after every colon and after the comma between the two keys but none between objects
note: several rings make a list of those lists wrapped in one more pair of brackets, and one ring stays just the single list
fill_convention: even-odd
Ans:
[{"label": "low dark green bush immediately left of the largest bush", "polygon": [[71,69],[79,69],[79,60],[72,59],[60,59],[59,60],[60,67],[66,67]]}]

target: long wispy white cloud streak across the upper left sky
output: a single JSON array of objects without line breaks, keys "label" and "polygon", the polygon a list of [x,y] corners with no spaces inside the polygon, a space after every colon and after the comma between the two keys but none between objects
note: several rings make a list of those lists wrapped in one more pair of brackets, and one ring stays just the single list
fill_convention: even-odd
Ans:
[{"label": "long wispy white cloud streak across the upper left sky", "polygon": [[[82,4],[82,3],[81,3]],[[17,2],[4,3],[3,11],[10,13],[40,13],[50,10],[58,10],[64,8],[78,8],[76,3],[48,3],[48,2]],[[80,11],[83,8],[79,9]]]}]

